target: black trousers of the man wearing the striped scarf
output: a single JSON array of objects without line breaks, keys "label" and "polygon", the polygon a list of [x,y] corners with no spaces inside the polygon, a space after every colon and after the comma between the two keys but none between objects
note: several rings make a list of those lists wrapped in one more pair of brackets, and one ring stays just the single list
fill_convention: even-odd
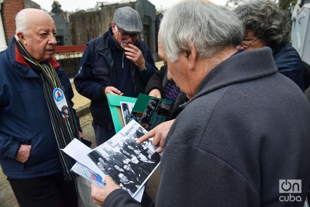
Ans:
[{"label": "black trousers of the man wearing the striped scarf", "polygon": [[61,172],[40,178],[7,180],[21,207],[78,206],[74,180],[65,181]]}]

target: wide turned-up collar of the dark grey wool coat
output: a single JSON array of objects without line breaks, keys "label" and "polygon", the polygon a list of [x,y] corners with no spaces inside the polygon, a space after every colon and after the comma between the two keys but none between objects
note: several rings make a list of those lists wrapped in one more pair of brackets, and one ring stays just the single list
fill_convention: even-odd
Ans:
[{"label": "wide turned-up collar of the dark grey wool coat", "polygon": [[224,60],[201,81],[196,95],[189,101],[214,90],[277,73],[269,47],[244,51]]}]

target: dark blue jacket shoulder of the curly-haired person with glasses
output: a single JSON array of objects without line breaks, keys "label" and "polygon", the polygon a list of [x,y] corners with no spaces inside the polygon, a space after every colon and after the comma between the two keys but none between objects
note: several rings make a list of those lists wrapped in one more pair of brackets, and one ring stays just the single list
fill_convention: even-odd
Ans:
[{"label": "dark blue jacket shoulder of the curly-haired person with glasses", "polygon": [[286,44],[272,55],[278,72],[294,81],[304,92],[303,63],[295,48]]}]

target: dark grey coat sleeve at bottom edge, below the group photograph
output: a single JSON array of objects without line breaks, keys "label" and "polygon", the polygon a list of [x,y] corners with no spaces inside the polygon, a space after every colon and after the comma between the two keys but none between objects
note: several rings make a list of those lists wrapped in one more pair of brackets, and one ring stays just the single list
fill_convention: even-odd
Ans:
[{"label": "dark grey coat sleeve at bottom edge, below the group photograph", "polygon": [[102,207],[140,207],[138,201],[133,199],[128,192],[123,189],[112,191],[104,200]]}]

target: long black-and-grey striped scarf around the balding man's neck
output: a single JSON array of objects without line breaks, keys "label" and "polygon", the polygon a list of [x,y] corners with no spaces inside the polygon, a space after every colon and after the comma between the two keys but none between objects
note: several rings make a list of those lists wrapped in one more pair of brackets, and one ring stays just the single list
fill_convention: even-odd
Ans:
[{"label": "long black-and-grey striped scarf around the balding man's neck", "polygon": [[58,146],[58,154],[60,157],[60,162],[63,170],[63,175],[65,180],[71,180],[76,176],[70,172],[71,167],[75,164],[75,161],[66,155],[62,150],[65,148],[74,138],[77,138],[81,141],[77,124],[74,118],[74,113],[70,104],[68,104],[69,113],[68,116],[63,116],[62,113],[58,110],[57,105],[54,101],[53,91],[56,87],[60,88],[64,92],[64,97],[69,101],[64,88],[56,74],[55,68],[52,66],[50,61],[38,64],[29,53],[24,48],[23,44],[16,37],[16,45],[18,51],[23,56],[24,60],[29,64],[29,66],[40,75],[43,81],[43,91],[45,100],[47,103],[48,112],[50,114],[51,123],[54,130],[54,135],[56,143]]}]

